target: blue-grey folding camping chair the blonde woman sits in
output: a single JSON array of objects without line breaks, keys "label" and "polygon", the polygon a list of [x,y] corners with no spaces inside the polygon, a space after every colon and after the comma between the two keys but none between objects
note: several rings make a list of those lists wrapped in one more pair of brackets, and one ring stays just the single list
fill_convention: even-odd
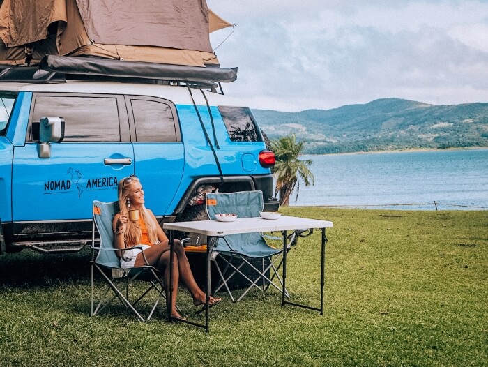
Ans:
[{"label": "blue-grey folding camping chair the blonde woman sits in", "polygon": [[[165,298],[164,285],[161,280],[162,276],[158,269],[149,265],[132,269],[122,269],[120,267],[119,257],[116,255],[117,250],[113,246],[114,232],[112,230],[112,219],[118,211],[118,202],[93,201],[93,226],[91,235],[91,316],[100,313],[105,307],[112,304],[114,299],[119,299],[126,308],[132,310],[132,312],[139,317],[139,320],[146,322],[151,319],[161,297]],[[99,246],[96,246],[96,230],[98,230],[100,235]],[[137,246],[132,248],[137,248]],[[142,254],[144,256],[144,251]],[[102,278],[107,283],[105,292],[102,292],[96,301],[93,282],[95,269],[102,275]],[[145,282],[148,282],[149,286],[139,297],[137,297],[137,299],[135,299],[135,301],[130,301],[130,285],[135,280],[144,280]],[[112,292],[110,292],[111,290]],[[136,306],[139,308],[139,302],[152,290],[156,293],[156,299],[149,313],[143,317]],[[98,302],[98,304],[94,308],[95,302]],[[140,308],[142,308],[142,306]]]}]

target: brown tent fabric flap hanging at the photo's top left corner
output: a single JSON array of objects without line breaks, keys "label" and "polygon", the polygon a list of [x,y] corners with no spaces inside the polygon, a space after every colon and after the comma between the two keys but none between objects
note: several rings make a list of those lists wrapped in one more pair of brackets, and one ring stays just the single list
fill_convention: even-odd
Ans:
[{"label": "brown tent fabric flap hanging at the photo's top left corner", "polygon": [[0,8],[0,38],[8,47],[47,38],[52,22],[66,22],[66,0],[4,0]]}]

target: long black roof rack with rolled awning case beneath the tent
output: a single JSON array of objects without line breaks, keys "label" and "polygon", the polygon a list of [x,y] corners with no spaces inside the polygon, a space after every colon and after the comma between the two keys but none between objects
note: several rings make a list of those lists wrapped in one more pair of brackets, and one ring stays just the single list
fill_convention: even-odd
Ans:
[{"label": "long black roof rack with rolled awning case beneath the tent", "polygon": [[47,55],[36,66],[0,64],[0,81],[49,83],[66,80],[116,80],[212,87],[234,82],[238,68],[181,66],[142,61],[121,61],[98,57]]}]

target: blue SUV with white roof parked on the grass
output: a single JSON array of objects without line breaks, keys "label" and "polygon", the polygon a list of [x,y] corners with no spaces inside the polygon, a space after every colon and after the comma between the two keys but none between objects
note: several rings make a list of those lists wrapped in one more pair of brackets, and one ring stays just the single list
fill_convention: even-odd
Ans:
[{"label": "blue SUV with white roof parked on the grass", "polygon": [[91,202],[135,174],[160,223],[197,218],[208,190],[262,190],[274,154],[249,108],[202,85],[0,68],[0,251],[80,250]]}]

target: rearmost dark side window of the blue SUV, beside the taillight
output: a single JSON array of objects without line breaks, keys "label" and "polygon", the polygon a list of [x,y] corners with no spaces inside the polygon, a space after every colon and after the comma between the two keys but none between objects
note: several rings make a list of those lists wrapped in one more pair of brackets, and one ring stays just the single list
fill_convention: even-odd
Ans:
[{"label": "rearmost dark side window of the blue SUV, beside the taillight", "polygon": [[248,107],[218,107],[233,142],[257,142],[256,122]]}]

